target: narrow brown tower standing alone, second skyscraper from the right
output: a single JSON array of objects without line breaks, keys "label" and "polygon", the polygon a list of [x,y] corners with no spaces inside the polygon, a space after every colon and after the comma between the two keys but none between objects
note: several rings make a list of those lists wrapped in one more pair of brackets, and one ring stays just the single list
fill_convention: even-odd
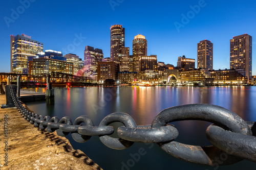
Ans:
[{"label": "narrow brown tower standing alone, second skyscraper from the right", "polygon": [[197,68],[208,68],[212,70],[214,44],[208,40],[197,44]]}]

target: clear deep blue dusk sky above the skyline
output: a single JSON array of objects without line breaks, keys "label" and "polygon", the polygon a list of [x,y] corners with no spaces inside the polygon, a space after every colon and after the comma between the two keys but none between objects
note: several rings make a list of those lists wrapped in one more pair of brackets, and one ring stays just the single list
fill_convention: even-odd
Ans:
[{"label": "clear deep blue dusk sky above the skyline", "polygon": [[[214,69],[229,68],[229,40],[252,36],[252,75],[256,75],[256,1],[2,1],[0,72],[10,71],[10,35],[26,34],[44,50],[73,53],[83,60],[86,45],[110,57],[110,27],[125,28],[125,46],[142,34],[147,54],[177,65],[185,55],[197,62],[197,43],[214,43]],[[196,64],[197,66],[197,64]]]}]

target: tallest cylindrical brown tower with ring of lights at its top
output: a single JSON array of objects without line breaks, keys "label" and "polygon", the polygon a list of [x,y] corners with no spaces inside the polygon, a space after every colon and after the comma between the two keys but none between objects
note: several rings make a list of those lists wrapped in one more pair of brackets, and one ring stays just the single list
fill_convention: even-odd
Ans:
[{"label": "tallest cylindrical brown tower with ring of lights at its top", "polygon": [[124,28],[121,25],[114,25],[110,28],[110,59],[120,63],[122,47],[124,47]]}]

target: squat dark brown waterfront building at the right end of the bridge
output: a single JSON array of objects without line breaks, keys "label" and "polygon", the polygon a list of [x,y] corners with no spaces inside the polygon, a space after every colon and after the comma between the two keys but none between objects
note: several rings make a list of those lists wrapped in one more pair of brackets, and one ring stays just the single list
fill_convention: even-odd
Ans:
[{"label": "squat dark brown waterfront building at the right end of the bridge", "polygon": [[98,81],[105,81],[106,79],[117,80],[119,64],[114,61],[98,62]]}]

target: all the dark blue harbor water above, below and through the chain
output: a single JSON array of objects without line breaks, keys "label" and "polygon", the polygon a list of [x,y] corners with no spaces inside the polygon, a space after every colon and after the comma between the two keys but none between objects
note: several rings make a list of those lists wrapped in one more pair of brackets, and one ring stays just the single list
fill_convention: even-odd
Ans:
[{"label": "all the dark blue harbor water above, below and through the chain", "polygon": [[[44,88],[25,89],[39,92]],[[114,112],[130,114],[137,125],[152,124],[163,109],[195,103],[222,106],[237,113],[246,121],[256,122],[256,87],[72,87],[54,88],[55,105],[46,102],[26,103],[37,114],[70,116],[74,121],[88,115],[98,126],[101,120]],[[176,141],[193,145],[209,145],[205,130],[210,125],[199,120],[174,122],[179,130]],[[120,125],[115,125],[120,126]],[[103,169],[255,169],[256,163],[243,160],[228,166],[204,166],[184,162],[161,150],[157,144],[134,143],[126,150],[105,147],[98,136],[85,143],[70,140],[74,149],[88,155]],[[221,161],[220,161],[221,162]],[[221,164],[221,163],[219,163]]]}]

